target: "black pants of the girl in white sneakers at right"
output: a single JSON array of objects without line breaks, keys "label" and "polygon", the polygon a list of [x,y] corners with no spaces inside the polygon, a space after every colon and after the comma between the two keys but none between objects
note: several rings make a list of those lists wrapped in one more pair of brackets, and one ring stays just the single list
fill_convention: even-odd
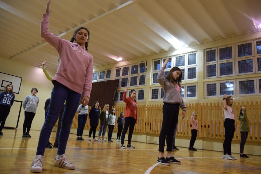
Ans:
[{"label": "black pants of the girl in white sneakers at right", "polygon": [[235,132],[235,120],[225,119],[224,127],[225,127],[225,140],[223,143],[224,155],[226,153],[228,155],[231,155],[231,142]]}]

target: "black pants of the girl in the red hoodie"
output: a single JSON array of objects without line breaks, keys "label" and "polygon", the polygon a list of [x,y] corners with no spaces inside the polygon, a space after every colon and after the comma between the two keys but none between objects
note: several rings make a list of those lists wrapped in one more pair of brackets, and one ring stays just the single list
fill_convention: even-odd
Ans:
[{"label": "black pants of the girl in the red hoodie", "polygon": [[121,135],[121,144],[124,144],[125,134],[129,127],[130,128],[129,128],[129,135],[128,135],[128,144],[130,144],[135,123],[136,123],[136,119],[133,117],[126,117],[124,119],[124,128]]}]

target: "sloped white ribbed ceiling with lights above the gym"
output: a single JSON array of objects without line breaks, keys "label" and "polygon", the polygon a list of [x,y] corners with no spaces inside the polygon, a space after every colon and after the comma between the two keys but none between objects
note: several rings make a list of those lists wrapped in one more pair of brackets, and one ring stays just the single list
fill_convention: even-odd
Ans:
[{"label": "sloped white ribbed ceiling with lights above the gym", "polygon": [[[58,54],[40,37],[47,0],[0,1],[0,55],[56,70]],[[50,32],[70,40],[90,31],[94,66],[257,32],[260,0],[52,0]]]}]

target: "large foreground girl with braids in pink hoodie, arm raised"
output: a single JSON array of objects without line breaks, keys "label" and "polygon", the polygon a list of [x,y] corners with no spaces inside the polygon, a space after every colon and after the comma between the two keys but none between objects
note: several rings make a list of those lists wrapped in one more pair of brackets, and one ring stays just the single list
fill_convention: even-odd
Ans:
[{"label": "large foreground girl with braids in pink hoodie, arm raised", "polygon": [[41,21],[41,37],[57,50],[59,66],[52,79],[54,87],[51,93],[50,108],[40,132],[36,157],[32,162],[31,172],[42,172],[45,146],[65,100],[66,104],[62,116],[59,146],[54,166],[70,170],[75,168],[75,165],[70,163],[64,155],[66,144],[77,108],[80,102],[84,106],[89,103],[92,87],[93,56],[87,52],[90,33],[87,28],[79,27],[75,30],[70,41],[50,33],[48,28],[48,20],[51,13],[51,10],[49,10],[50,3],[51,1],[49,0]]}]

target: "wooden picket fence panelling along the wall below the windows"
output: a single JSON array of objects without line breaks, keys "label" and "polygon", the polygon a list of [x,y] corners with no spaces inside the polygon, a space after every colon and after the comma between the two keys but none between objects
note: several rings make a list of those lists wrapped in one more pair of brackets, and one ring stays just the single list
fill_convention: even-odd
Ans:
[{"label": "wooden picket fence panelling along the wall below the windows", "polygon": [[[195,103],[186,104],[187,112],[185,119],[181,120],[182,110],[180,109],[177,136],[191,136],[191,123],[190,118],[192,112],[197,114],[198,125],[199,125],[199,137],[202,138],[217,138],[223,139],[225,135],[224,128],[224,116],[223,116],[223,103]],[[248,141],[260,142],[260,116],[261,116],[261,102],[238,102],[232,105],[232,109],[235,113],[236,132],[234,134],[234,140],[240,140],[240,121],[239,113],[240,108],[245,106],[247,111],[247,117],[250,123],[250,133]],[[125,104],[113,106],[116,110],[117,118],[120,112],[125,112]],[[90,111],[91,107],[89,107]],[[101,109],[101,108],[100,108]],[[100,121],[99,121],[100,122]],[[57,125],[57,123],[56,123]],[[88,117],[85,129],[90,128],[90,119]],[[144,134],[160,134],[162,125],[162,105],[138,105],[138,122],[134,127],[134,132]],[[73,119],[72,127],[78,127],[78,113],[75,114]],[[100,129],[100,124],[97,130]],[[108,128],[107,128],[108,129]],[[114,127],[117,131],[117,123]]]}]

